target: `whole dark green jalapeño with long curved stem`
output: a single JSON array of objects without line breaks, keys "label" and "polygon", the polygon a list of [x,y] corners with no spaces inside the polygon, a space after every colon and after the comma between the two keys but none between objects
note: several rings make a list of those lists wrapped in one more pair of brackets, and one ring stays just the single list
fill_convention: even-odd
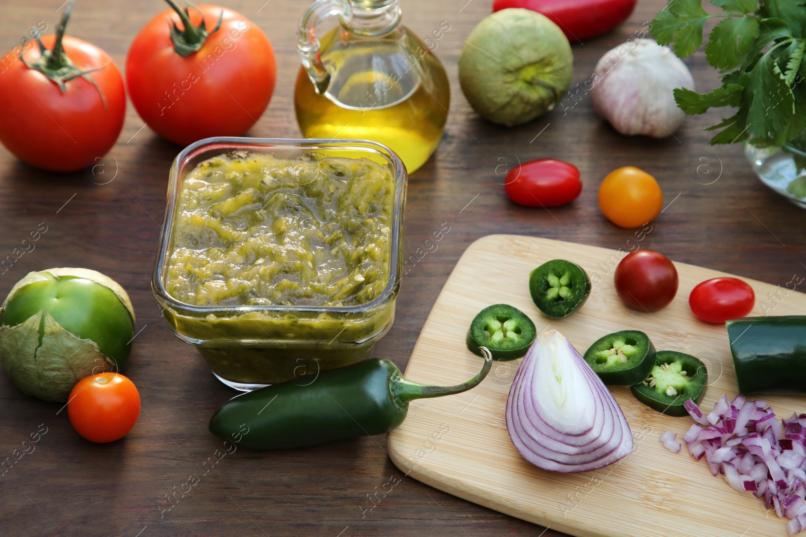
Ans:
[{"label": "whole dark green jalape\u00f1o with long curved stem", "polygon": [[230,399],[210,419],[210,432],[249,449],[304,448],[389,432],[403,423],[409,401],[470,390],[487,376],[487,349],[479,374],[457,386],[423,386],[403,378],[391,361],[372,358]]}]

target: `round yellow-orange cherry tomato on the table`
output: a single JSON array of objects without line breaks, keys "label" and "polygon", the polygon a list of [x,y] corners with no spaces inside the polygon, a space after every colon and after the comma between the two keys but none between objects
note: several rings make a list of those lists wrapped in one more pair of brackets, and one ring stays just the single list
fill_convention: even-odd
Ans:
[{"label": "round yellow-orange cherry tomato on the table", "polygon": [[622,228],[653,221],[663,208],[663,192],[653,176],[634,166],[611,171],[599,187],[599,209]]}]

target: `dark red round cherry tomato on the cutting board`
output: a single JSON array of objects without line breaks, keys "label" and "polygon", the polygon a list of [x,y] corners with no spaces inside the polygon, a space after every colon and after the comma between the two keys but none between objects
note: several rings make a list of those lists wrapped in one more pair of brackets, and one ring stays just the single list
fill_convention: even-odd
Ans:
[{"label": "dark red round cherry tomato on the cutting board", "polygon": [[663,254],[638,250],[625,255],[616,267],[616,292],[630,308],[656,312],[677,294],[677,269]]}]

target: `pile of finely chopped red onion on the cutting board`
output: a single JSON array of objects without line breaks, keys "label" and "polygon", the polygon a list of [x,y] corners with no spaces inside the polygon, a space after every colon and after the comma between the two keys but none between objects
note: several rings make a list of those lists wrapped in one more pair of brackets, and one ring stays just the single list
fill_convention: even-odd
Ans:
[{"label": "pile of finely chopped red onion on the cutting board", "polygon": [[705,456],[711,473],[723,474],[731,488],[752,492],[767,509],[791,518],[789,535],[804,531],[806,414],[779,421],[765,401],[747,401],[742,394],[731,403],[723,395],[707,416],[691,399],[683,406],[699,423],[683,436],[688,452],[697,461]]}]

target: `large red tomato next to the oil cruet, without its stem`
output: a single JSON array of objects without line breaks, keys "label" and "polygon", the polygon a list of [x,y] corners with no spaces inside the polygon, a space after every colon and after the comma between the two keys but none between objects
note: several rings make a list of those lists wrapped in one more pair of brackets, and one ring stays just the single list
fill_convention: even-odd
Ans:
[{"label": "large red tomato next to the oil cruet, without its stem", "polygon": [[268,106],[276,79],[272,43],[255,23],[221,6],[191,8],[190,22],[200,26],[202,14],[208,31],[223,18],[197,52],[182,57],[174,50],[168,24],[185,25],[165,10],[143,27],[126,58],[129,96],[140,118],[181,145],[246,133]]}]

